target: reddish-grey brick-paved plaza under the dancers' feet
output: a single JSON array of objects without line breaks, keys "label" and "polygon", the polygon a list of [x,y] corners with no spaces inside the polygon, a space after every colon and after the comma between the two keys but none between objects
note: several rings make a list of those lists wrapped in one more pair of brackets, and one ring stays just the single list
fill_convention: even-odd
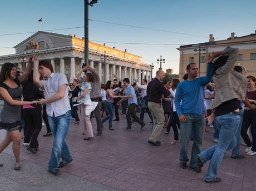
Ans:
[{"label": "reddish-grey brick-paved plaza under the dancers' feet", "polygon": [[[0,190],[256,190],[256,156],[231,159],[227,152],[218,171],[220,183],[204,183],[204,174],[179,167],[179,145],[171,145],[173,132],[160,137],[161,146],[147,143],[151,124],[146,117],[146,127],[139,130],[133,123],[125,132],[125,115],[113,122],[114,131],[104,124],[103,135],[83,140],[82,124],[71,124],[66,142],[73,162],[61,169],[57,177],[47,172],[52,148],[52,137],[39,135],[39,152],[32,154],[21,146],[22,169],[13,170],[14,157],[11,145],[0,154]],[[96,122],[92,119],[93,130]],[[5,130],[0,130],[3,140]],[[214,145],[213,134],[205,133],[204,149]],[[190,147],[191,149],[191,142]],[[245,146],[241,145],[242,153]],[[190,150],[189,150],[190,152]]]}]

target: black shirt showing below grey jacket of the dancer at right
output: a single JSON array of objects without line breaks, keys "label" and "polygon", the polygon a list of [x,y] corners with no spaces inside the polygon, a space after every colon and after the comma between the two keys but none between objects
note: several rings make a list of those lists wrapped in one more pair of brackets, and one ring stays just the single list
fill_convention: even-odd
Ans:
[{"label": "black shirt showing below grey jacket of the dancer at right", "polygon": [[215,116],[224,115],[240,108],[240,101],[235,98],[228,100],[227,102],[221,103],[215,108]]}]

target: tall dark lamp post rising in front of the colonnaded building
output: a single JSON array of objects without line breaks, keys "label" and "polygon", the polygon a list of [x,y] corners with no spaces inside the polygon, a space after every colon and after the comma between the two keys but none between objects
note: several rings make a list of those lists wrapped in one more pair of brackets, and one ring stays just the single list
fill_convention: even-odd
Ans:
[{"label": "tall dark lamp post rising in front of the colonnaded building", "polygon": [[97,3],[98,0],[92,0],[90,3],[88,0],[84,0],[85,6],[85,64],[88,66],[88,59],[89,59],[89,6],[93,6],[93,4]]}]

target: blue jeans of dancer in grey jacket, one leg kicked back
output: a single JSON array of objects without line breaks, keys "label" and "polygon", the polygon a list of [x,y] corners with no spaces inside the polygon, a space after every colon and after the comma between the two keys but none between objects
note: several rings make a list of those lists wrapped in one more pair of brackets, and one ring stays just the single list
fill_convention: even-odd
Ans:
[{"label": "blue jeans of dancer in grey jacket, one leg kicked back", "polygon": [[218,143],[198,154],[203,163],[211,160],[207,173],[205,174],[205,180],[214,180],[216,178],[217,170],[225,152],[237,145],[235,135],[239,128],[240,116],[224,114],[216,117],[216,121],[221,126]]}]

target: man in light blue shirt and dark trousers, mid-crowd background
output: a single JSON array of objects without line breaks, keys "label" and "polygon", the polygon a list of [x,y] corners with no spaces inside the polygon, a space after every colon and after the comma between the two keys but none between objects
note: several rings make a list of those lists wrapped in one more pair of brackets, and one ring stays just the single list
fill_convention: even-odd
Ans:
[{"label": "man in light blue shirt and dark trousers, mid-crowd background", "polygon": [[137,103],[137,97],[134,91],[134,88],[130,85],[130,80],[128,78],[124,78],[123,81],[125,86],[125,98],[128,100],[128,111],[126,113],[126,119],[127,119],[127,127],[125,130],[131,130],[131,116],[141,125],[140,130],[142,130],[145,126],[145,123],[140,120],[139,117],[137,117],[135,113],[135,107],[138,105]]}]

